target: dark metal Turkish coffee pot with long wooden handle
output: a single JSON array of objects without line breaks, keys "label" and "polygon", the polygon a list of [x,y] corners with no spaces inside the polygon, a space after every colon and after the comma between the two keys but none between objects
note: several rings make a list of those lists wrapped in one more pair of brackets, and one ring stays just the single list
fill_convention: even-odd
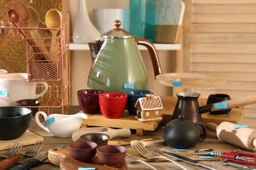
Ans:
[{"label": "dark metal Turkish coffee pot with long wooden handle", "polygon": [[[176,93],[178,99],[173,111],[172,120],[184,116],[184,119],[191,120],[195,123],[203,123],[201,114],[210,111],[232,109],[256,103],[256,95],[242,97],[240,99],[231,99],[219,103],[211,103],[209,105],[199,106],[198,97],[200,93],[195,92],[179,92]],[[226,107],[217,107],[220,103],[226,103]]]}]

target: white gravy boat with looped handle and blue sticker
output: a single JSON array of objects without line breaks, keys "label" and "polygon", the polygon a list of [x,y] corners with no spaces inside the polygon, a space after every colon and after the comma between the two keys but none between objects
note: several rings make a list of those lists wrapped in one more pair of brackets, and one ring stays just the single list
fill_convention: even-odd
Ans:
[{"label": "white gravy boat with looped handle and blue sticker", "polygon": [[[45,126],[41,124],[39,115],[45,118]],[[50,114],[47,116],[45,112],[37,112],[35,114],[35,122],[45,131],[52,133],[56,137],[72,137],[72,133],[79,129],[83,120],[87,119],[84,113],[77,114]]]}]

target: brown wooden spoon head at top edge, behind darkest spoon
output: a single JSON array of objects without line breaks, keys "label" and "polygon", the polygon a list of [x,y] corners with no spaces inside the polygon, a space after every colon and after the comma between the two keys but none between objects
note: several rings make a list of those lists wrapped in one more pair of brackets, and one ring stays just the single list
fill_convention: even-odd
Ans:
[{"label": "brown wooden spoon head at top edge, behind darkest spoon", "polygon": [[12,3],[12,9],[16,10],[18,16],[20,16],[20,20],[22,20],[25,24],[30,20],[30,11],[27,6],[21,1],[14,1]]}]

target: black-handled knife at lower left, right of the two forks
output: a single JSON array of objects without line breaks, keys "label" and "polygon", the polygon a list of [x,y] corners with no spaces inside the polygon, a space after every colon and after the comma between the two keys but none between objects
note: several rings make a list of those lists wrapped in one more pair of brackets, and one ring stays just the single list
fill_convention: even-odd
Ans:
[{"label": "black-handled knife at lower left, right of the two forks", "polygon": [[[58,146],[57,148],[64,148],[65,145]],[[30,169],[31,167],[35,167],[41,163],[41,161],[48,158],[48,151],[44,154],[41,154],[37,158],[30,158],[29,160],[24,161],[23,163],[20,163],[19,165],[16,165],[12,167],[10,170],[26,170]]]}]

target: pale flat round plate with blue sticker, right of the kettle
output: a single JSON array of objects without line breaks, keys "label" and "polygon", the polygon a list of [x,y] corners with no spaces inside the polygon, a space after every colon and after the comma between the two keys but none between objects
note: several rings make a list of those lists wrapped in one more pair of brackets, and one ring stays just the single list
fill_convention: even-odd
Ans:
[{"label": "pale flat round plate with blue sticker, right of the kettle", "polygon": [[165,73],[157,75],[156,80],[165,86],[186,88],[209,88],[226,82],[223,78],[196,73]]}]

